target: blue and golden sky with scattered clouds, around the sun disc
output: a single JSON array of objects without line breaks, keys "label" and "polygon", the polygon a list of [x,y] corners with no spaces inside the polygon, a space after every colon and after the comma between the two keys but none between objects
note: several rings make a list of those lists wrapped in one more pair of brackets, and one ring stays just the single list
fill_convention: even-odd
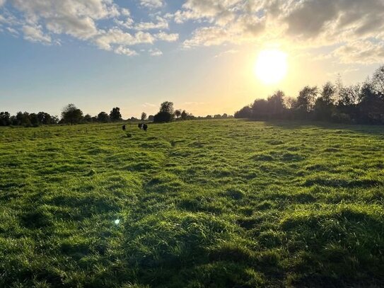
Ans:
[{"label": "blue and golden sky with scattered clouds, around the sun disc", "polygon": [[[278,83],[255,75],[286,54]],[[0,111],[233,115],[384,64],[384,0],[0,0]],[[279,66],[277,67],[279,69]]]}]

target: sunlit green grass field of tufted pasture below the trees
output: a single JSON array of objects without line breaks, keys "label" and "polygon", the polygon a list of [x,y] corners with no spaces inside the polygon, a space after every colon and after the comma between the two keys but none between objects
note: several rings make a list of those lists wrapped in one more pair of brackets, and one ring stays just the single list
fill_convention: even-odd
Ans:
[{"label": "sunlit green grass field of tufted pasture below the trees", "polygon": [[0,175],[0,287],[384,285],[384,127],[8,127]]}]

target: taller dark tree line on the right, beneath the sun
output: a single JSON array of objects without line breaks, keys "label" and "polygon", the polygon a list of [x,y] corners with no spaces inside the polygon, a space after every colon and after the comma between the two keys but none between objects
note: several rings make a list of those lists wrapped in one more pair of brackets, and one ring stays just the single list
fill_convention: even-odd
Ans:
[{"label": "taller dark tree line on the right, beneath the sun", "polygon": [[236,118],[254,120],[320,120],[341,123],[384,124],[384,65],[371,79],[345,86],[340,79],[306,86],[297,98],[277,91],[267,99],[256,99],[235,113]]}]

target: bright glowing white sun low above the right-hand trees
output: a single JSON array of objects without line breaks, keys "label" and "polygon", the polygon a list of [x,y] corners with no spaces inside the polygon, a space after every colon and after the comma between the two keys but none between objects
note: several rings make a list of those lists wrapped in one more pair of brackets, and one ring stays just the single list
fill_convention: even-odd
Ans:
[{"label": "bright glowing white sun low above the right-hand trees", "polygon": [[279,83],[288,71],[286,58],[281,50],[262,50],[255,64],[257,78],[267,85]]}]

